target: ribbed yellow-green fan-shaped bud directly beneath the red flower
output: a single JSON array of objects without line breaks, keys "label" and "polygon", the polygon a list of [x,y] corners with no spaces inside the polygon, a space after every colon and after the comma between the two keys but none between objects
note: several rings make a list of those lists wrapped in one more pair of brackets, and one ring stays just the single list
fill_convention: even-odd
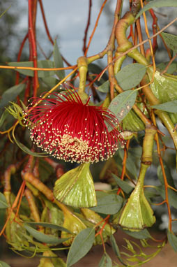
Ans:
[{"label": "ribbed yellow-green fan-shaped bud directly beneath the red flower", "polygon": [[76,208],[97,205],[89,164],[82,164],[62,175],[55,183],[54,196],[62,203]]}]

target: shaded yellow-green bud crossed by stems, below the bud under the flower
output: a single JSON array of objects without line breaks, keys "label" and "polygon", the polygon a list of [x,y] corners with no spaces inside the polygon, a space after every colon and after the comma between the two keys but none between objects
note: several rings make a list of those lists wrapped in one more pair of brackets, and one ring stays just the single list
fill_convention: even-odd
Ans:
[{"label": "shaded yellow-green bud crossed by stems, below the bud under the flower", "polygon": [[69,240],[63,242],[63,245],[66,246],[72,244],[72,241],[75,238],[75,235],[77,235],[77,233],[86,229],[86,225],[69,210],[67,212],[64,212],[63,227],[72,232],[72,233],[67,233],[66,231],[61,232],[61,238],[70,238]]}]

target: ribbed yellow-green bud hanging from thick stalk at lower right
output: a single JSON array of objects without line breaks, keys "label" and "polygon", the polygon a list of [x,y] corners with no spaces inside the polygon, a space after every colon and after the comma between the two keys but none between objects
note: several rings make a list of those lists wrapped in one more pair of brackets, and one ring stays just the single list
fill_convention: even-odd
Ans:
[{"label": "ribbed yellow-green bud hanging from thick stalk at lower right", "polygon": [[144,196],[143,187],[139,187],[138,183],[123,208],[118,223],[129,231],[139,231],[155,223],[153,210]]}]

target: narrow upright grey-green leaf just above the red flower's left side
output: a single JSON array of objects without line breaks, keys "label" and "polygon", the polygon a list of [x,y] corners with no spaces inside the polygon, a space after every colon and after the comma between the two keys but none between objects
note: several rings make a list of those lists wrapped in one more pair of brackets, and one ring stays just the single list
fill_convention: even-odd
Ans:
[{"label": "narrow upright grey-green leaf just above the red flower's left side", "polygon": [[[61,57],[61,53],[59,51],[59,47],[57,45],[57,42],[55,40],[54,42],[54,66],[55,68],[63,68],[63,59]],[[65,78],[65,71],[56,71],[56,75],[59,77],[60,80]]]}]

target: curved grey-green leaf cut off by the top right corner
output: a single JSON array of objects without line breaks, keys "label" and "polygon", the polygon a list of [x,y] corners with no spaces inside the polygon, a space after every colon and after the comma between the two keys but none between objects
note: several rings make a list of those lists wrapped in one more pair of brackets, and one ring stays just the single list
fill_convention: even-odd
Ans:
[{"label": "curved grey-green leaf cut off by the top right corner", "polygon": [[139,16],[141,16],[142,13],[146,12],[147,10],[151,9],[151,8],[162,8],[162,7],[167,7],[167,6],[173,6],[173,7],[177,7],[177,1],[174,0],[153,0],[150,3],[147,3],[146,6],[144,6],[144,8],[142,8],[139,13],[137,14],[137,16],[135,17],[135,19],[137,20],[137,18]]}]

